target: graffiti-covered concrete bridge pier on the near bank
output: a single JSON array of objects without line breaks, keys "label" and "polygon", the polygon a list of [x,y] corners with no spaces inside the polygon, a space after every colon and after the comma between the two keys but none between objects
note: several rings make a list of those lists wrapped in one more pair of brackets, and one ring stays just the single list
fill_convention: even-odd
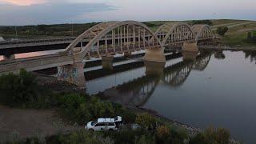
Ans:
[{"label": "graffiti-covered concrete bridge pier on the near bank", "polygon": [[60,81],[70,82],[81,88],[86,88],[84,74],[84,62],[76,62],[73,65],[58,66],[57,78]]}]

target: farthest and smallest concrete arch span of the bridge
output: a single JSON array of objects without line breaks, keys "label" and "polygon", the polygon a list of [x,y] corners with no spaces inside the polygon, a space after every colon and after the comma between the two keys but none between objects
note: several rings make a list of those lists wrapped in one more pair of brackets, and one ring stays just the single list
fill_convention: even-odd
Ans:
[{"label": "farthest and smallest concrete arch span of the bridge", "polygon": [[209,25],[194,25],[192,26],[192,30],[194,31],[197,41],[214,38],[214,34]]}]

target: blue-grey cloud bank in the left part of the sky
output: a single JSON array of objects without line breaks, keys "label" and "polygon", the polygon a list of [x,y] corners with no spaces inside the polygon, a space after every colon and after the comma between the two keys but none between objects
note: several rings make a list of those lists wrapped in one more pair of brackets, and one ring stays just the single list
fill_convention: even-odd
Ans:
[{"label": "blue-grey cloud bank in the left part of the sky", "polygon": [[105,3],[45,2],[27,6],[0,5],[0,25],[90,22],[86,14],[115,10]]}]

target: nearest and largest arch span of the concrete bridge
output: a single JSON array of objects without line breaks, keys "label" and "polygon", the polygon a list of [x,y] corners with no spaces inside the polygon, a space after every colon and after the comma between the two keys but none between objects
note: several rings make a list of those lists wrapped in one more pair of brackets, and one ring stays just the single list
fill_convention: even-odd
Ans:
[{"label": "nearest and largest arch span of the concrete bridge", "polygon": [[[87,41],[87,42],[86,42]],[[102,22],[78,36],[66,48],[70,54],[109,56],[161,47],[158,37],[141,22]]]}]

